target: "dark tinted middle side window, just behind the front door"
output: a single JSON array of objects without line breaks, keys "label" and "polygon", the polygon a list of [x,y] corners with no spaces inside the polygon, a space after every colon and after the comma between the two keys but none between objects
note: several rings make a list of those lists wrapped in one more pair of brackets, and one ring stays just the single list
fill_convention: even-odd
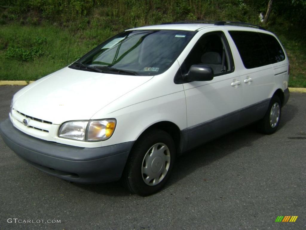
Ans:
[{"label": "dark tinted middle side window, just behind the front door", "polygon": [[256,68],[271,64],[267,49],[256,32],[229,31],[238,49],[244,67]]}]

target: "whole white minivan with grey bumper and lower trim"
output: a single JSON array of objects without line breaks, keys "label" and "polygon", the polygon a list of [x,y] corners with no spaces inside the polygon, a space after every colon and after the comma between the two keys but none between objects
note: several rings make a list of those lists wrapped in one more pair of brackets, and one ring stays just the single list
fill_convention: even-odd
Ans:
[{"label": "whole white minivan with grey bumper and lower trim", "polygon": [[253,122],[275,132],[288,79],[278,38],[254,25],[128,29],[18,91],[0,130],[41,171],[149,195],[181,153]]}]

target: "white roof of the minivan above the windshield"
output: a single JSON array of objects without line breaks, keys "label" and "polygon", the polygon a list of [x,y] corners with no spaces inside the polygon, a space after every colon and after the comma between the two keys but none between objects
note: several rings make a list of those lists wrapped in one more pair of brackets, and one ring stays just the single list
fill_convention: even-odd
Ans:
[{"label": "white roof of the minivan above the windshield", "polygon": [[128,30],[172,29],[172,30],[196,31],[200,28],[209,27],[213,25],[214,24],[205,24],[205,23],[181,23],[181,24],[149,25],[149,26],[142,26],[142,27],[128,29]]}]

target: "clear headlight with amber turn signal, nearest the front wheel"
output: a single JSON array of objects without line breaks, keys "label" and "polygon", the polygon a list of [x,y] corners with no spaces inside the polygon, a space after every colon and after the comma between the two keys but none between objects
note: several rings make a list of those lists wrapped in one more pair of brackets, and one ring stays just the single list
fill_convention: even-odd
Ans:
[{"label": "clear headlight with amber turn signal, nearest the front wheel", "polygon": [[115,119],[67,121],[61,125],[58,136],[72,140],[102,141],[113,135],[115,127]]}]

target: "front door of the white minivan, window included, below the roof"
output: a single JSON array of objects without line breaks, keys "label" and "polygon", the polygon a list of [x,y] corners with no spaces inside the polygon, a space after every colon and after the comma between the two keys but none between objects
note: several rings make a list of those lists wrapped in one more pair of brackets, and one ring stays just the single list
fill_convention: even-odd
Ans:
[{"label": "front door of the white minivan, window included, below the roof", "polygon": [[242,100],[242,79],[233,71],[233,57],[222,31],[200,37],[181,65],[182,75],[188,73],[194,64],[210,66],[214,79],[183,83],[187,149],[234,129],[239,122]]}]

